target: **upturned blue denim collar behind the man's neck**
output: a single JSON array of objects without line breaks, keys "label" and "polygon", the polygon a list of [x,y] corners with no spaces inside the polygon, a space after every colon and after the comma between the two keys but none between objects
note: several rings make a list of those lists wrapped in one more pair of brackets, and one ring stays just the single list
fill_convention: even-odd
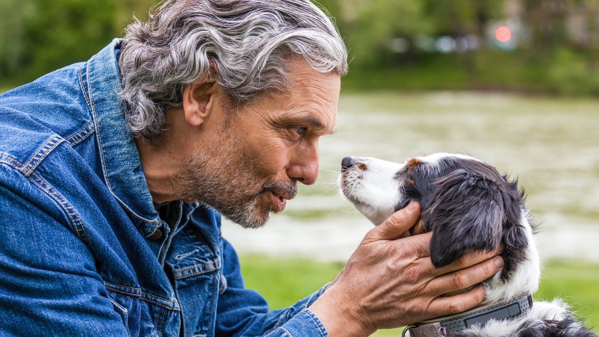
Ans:
[{"label": "upturned blue denim collar behind the man's neck", "polygon": [[114,39],[87,62],[85,79],[104,182],[141,233],[148,237],[161,227],[152,195],[141,166],[134,136],[125,122],[125,104],[117,93],[122,89],[114,50],[122,39]]}]

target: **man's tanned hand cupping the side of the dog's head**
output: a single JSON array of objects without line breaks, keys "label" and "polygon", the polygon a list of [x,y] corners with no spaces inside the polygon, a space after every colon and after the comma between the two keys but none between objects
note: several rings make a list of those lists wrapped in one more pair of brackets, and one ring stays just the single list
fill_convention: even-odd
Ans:
[{"label": "man's tanned hand cupping the side of the dog's head", "polygon": [[377,329],[406,326],[466,311],[485,299],[483,287],[462,290],[503,267],[500,251],[471,253],[435,269],[429,257],[432,233],[398,239],[420,216],[413,201],[370,230],[334,283],[310,310],[331,336],[367,336]]}]

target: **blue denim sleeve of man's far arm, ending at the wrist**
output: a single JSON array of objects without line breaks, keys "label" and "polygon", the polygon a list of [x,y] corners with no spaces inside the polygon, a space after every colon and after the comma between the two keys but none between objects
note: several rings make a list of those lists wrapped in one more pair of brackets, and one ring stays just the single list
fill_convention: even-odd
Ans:
[{"label": "blue denim sleeve of man's far arm, ending at the wrist", "polygon": [[245,288],[237,253],[225,239],[223,255],[223,276],[227,288],[219,296],[217,336],[328,336],[319,318],[307,309],[323,293],[326,285],[289,308],[268,311],[264,297]]}]

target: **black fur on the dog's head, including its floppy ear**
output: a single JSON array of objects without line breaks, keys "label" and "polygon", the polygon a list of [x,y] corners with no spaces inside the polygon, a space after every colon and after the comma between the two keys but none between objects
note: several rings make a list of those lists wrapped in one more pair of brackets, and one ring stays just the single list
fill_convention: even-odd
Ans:
[{"label": "black fur on the dog's head, including its floppy ear", "polygon": [[431,260],[446,266],[468,251],[494,251],[500,243],[502,278],[524,260],[528,245],[520,225],[524,207],[518,183],[477,160],[447,157],[398,172],[409,201],[422,206],[422,230],[432,231]]}]

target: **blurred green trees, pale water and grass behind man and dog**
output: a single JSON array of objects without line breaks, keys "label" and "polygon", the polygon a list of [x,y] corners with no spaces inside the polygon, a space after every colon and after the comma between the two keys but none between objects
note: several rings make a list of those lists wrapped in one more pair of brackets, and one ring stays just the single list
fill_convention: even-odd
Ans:
[{"label": "blurred green trees, pale water and grass behind man and dog", "polygon": [[[154,0],[0,0],[0,92],[86,61]],[[599,1],[322,0],[346,41],[319,182],[261,230],[226,222],[273,308],[330,281],[372,227],[338,194],[346,155],[474,155],[519,178],[542,224],[539,299],[599,324]],[[599,332],[599,329],[597,329]],[[400,335],[400,330],[378,335]]]}]

